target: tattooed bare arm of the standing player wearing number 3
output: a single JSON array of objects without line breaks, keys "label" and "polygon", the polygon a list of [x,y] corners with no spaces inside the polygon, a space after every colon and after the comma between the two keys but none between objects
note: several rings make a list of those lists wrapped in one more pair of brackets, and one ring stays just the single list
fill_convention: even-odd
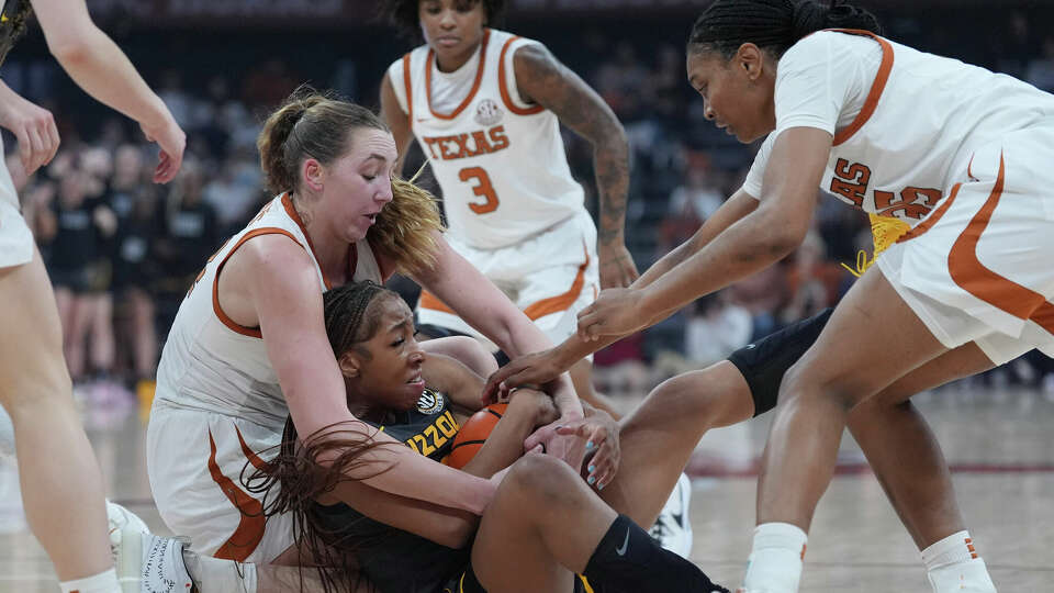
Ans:
[{"label": "tattooed bare arm of the standing player wearing number 3", "polygon": [[553,112],[560,123],[593,145],[601,202],[597,230],[601,286],[627,287],[637,267],[626,249],[624,227],[629,193],[629,143],[607,103],[545,46],[531,44],[513,56],[516,86],[525,100]]}]

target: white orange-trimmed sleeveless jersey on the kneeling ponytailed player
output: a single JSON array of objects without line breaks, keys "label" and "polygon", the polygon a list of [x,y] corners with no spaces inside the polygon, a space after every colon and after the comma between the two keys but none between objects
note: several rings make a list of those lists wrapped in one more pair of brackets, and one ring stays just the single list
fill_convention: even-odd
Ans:
[{"label": "white orange-trimmed sleeveless jersey on the kneeling ponytailed player", "polygon": [[[158,365],[155,405],[225,414],[282,432],[289,407],[260,329],[227,317],[217,292],[217,275],[227,258],[246,240],[268,234],[282,234],[300,244],[315,266],[319,289],[332,288],[289,194],[274,198],[209,258],[183,299]],[[351,250],[349,276],[381,282],[369,242],[362,239]]]}]

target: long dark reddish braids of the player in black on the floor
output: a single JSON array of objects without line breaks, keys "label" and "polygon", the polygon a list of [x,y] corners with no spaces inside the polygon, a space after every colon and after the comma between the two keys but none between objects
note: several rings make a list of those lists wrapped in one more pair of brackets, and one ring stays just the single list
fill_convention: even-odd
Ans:
[{"label": "long dark reddish braids of the player in black on the floor", "polygon": [[[385,299],[399,298],[395,292],[370,280],[349,282],[327,291],[323,295],[326,335],[334,355],[339,359],[372,338],[380,327],[380,320],[373,314],[377,305]],[[264,499],[266,516],[292,515],[294,541],[301,553],[307,557],[301,564],[317,567],[326,593],[357,591],[363,581],[354,560],[355,552],[378,544],[386,535],[357,536],[347,526],[333,530],[316,512],[318,495],[351,480],[348,473],[375,463],[361,459],[362,454],[386,445],[373,440],[377,432],[362,426],[361,423],[356,427],[332,424],[301,439],[290,417],[285,421],[278,455],[264,468],[250,469],[251,466],[246,465],[243,471],[249,472],[247,478],[243,475],[246,490]],[[325,467],[319,459],[333,460]],[[391,466],[375,469],[371,477],[389,471]],[[303,590],[303,570],[300,582]]]}]

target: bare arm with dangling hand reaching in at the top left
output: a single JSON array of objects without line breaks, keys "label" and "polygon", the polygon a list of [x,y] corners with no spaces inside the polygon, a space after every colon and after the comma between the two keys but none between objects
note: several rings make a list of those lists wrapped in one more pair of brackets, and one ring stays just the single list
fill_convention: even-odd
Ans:
[{"label": "bare arm with dangling hand reaching in at the top left", "polygon": [[52,55],[88,94],[143,127],[161,148],[154,181],[170,181],[179,171],[187,138],[160,98],[113,40],[99,30],[85,0],[32,0]]}]

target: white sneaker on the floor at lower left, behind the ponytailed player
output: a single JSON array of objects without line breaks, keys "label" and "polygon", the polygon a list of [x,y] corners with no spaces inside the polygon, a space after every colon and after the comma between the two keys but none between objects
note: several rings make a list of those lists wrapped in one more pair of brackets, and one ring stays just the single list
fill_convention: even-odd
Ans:
[{"label": "white sneaker on the floor at lower left, behind the ponytailed player", "polygon": [[116,532],[116,540],[114,566],[122,593],[194,591],[183,562],[182,541],[127,528]]}]

